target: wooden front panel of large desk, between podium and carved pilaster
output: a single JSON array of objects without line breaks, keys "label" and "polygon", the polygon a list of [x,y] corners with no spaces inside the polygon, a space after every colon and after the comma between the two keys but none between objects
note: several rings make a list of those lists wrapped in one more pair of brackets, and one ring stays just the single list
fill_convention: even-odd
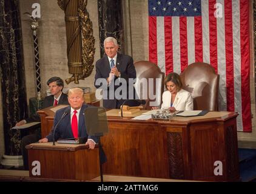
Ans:
[{"label": "wooden front panel of large desk, between podium and carved pilaster", "polygon": [[[102,138],[107,162],[106,174],[169,178],[166,133],[155,124],[109,123]],[[110,165],[109,165],[110,164]]]}]

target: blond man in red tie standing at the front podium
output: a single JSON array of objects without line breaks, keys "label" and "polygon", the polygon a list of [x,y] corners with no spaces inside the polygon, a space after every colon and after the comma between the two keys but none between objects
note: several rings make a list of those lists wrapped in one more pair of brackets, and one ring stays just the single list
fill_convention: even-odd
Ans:
[{"label": "blond man in red tie standing at the front podium", "polygon": [[86,145],[89,146],[89,149],[94,149],[98,138],[87,134],[84,110],[88,106],[83,104],[83,94],[84,91],[78,87],[69,90],[68,100],[70,106],[59,109],[55,113],[52,131],[45,138],[40,139],[39,142],[85,137],[87,139]]}]

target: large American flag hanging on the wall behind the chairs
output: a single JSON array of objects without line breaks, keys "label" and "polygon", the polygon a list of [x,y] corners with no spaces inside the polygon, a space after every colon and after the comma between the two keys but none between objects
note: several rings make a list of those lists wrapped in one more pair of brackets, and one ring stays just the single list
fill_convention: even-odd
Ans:
[{"label": "large American flag hanging on the wall behind the chairs", "polygon": [[219,109],[252,131],[249,0],[149,0],[149,61],[166,75],[207,62],[220,75]]}]

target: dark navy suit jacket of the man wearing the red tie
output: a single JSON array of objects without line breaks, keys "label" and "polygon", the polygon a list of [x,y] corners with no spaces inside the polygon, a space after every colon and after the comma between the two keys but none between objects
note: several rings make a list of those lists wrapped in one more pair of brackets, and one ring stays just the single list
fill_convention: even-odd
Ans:
[{"label": "dark navy suit jacket of the man wearing the red tie", "polygon": [[[86,139],[89,138],[89,139],[93,139],[93,141],[95,142],[98,142],[98,138],[96,138],[96,136],[88,136],[86,131],[86,122],[84,120],[84,110],[87,107],[88,107],[87,104],[83,104],[79,112],[78,137],[86,137]],[[66,115],[64,118],[62,118],[61,122],[59,122],[64,112],[69,112],[69,114]],[[55,129],[55,140],[74,138],[72,133],[72,128],[71,128],[70,106],[69,106],[56,111],[52,131],[49,133],[49,135],[46,136],[48,141],[53,141],[53,129],[55,128],[55,125],[58,122],[59,122],[59,125]]]}]

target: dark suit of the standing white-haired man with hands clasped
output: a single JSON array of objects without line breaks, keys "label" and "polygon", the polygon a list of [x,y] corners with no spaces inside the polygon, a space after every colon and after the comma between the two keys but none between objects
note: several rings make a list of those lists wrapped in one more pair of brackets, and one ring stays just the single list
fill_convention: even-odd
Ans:
[{"label": "dark suit of the standing white-haired man with hands clasped", "polygon": [[[99,59],[96,64],[95,64],[95,67],[96,67],[96,74],[95,74],[95,82],[94,82],[94,85],[96,83],[96,80],[98,78],[104,78],[104,79],[107,79],[109,77],[109,73],[111,71],[110,69],[110,65],[109,65],[109,59],[107,58],[107,56],[104,56],[103,58]],[[123,54],[117,54],[117,58],[116,58],[116,68],[118,69],[118,71],[121,73],[121,78],[124,78],[126,79],[126,87],[127,87],[127,96],[126,98],[123,98],[123,99],[110,99],[109,98],[109,94],[116,91],[116,89],[118,89],[118,87],[122,87],[123,85],[120,84],[119,85],[115,85],[114,86],[114,91],[110,92],[110,88],[111,87],[102,87],[102,84],[101,85],[95,85],[96,88],[103,88],[103,92],[107,92],[107,99],[103,99],[103,107],[107,108],[107,109],[119,109],[120,108],[120,105],[123,104],[123,102],[125,101],[125,99],[128,98],[128,94],[129,92],[133,92],[133,98],[135,98],[135,89],[134,87],[132,86],[132,91],[129,91],[129,78],[133,78],[135,79],[136,78],[136,70],[135,70],[135,67],[134,67],[134,64],[133,64],[133,59],[128,56],[128,55],[123,55]],[[116,76],[115,76],[115,81],[116,79],[118,79]],[[113,82],[111,82],[113,83]]]}]

